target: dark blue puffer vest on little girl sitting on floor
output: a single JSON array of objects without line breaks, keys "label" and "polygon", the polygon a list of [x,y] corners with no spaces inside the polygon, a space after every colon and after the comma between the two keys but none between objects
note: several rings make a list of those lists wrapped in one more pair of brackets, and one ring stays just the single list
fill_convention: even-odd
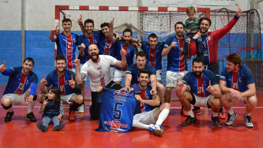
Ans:
[{"label": "dark blue puffer vest on little girl sitting on floor", "polygon": [[54,116],[58,116],[59,115],[59,106],[60,106],[60,102],[54,103],[54,100],[48,99],[48,104],[45,107],[42,118],[45,116],[48,116],[50,118],[53,118]]}]

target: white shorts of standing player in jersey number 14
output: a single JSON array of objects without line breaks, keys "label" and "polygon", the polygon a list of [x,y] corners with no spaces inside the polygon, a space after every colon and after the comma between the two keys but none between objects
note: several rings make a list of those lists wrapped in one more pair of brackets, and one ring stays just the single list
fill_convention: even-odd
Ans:
[{"label": "white shorts of standing player in jersey number 14", "polygon": [[172,72],[167,71],[166,73],[166,87],[176,87],[177,82],[181,81],[181,77],[184,77],[188,71],[184,72]]}]

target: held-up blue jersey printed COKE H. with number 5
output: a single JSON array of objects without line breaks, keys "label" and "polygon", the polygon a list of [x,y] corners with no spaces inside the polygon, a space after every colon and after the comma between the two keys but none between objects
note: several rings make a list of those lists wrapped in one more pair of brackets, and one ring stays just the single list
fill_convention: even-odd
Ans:
[{"label": "held-up blue jersey printed COKE H. with number 5", "polygon": [[137,100],[131,94],[103,88],[98,94],[100,103],[99,127],[101,132],[129,132]]}]

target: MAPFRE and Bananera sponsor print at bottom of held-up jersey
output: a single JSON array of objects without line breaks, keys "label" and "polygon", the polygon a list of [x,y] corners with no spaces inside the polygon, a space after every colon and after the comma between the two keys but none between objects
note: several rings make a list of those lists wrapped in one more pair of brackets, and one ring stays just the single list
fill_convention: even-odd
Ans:
[{"label": "MAPFRE and Bananera sponsor print at bottom of held-up jersey", "polygon": [[120,129],[120,127],[127,129],[128,125],[127,124],[122,124],[120,121],[104,121],[104,124],[106,124],[105,129],[107,131],[111,132],[120,132],[124,131],[124,129]]}]

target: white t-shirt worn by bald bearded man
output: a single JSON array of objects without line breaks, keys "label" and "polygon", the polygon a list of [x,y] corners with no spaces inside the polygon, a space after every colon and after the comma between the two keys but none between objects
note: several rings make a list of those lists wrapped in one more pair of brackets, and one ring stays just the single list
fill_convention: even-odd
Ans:
[{"label": "white t-shirt worn by bald bearded man", "polygon": [[81,68],[80,73],[90,77],[91,91],[97,91],[99,86],[105,87],[111,82],[110,65],[115,65],[117,59],[109,55],[99,55],[100,62],[88,60]]}]

